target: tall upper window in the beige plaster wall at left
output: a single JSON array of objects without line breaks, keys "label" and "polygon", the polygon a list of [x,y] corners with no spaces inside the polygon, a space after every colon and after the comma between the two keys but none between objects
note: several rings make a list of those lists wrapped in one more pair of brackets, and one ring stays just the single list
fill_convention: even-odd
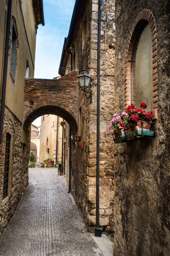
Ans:
[{"label": "tall upper window in the beige plaster wall at left", "polygon": [[11,54],[10,54],[10,75],[15,82],[16,64],[17,64],[17,33],[15,31],[14,23],[12,23],[11,31]]}]

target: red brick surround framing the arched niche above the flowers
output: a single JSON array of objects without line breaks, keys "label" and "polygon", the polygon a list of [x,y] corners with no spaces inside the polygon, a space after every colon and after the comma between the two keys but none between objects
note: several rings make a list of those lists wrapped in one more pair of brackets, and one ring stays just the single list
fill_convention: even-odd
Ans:
[{"label": "red brick surround framing the arched niche above the flowers", "polygon": [[157,69],[157,38],[156,38],[156,25],[153,14],[144,9],[139,13],[134,22],[133,28],[130,32],[129,44],[127,48],[126,55],[126,64],[125,64],[125,102],[124,107],[127,108],[128,105],[132,103],[132,86],[136,83],[136,78],[132,72],[132,69],[135,65],[135,41],[139,33],[139,30],[142,26],[149,24],[152,35],[152,70],[153,70],[153,115],[154,118],[157,118],[157,107],[158,107],[158,92],[157,92],[157,78],[158,78],[158,69]]}]

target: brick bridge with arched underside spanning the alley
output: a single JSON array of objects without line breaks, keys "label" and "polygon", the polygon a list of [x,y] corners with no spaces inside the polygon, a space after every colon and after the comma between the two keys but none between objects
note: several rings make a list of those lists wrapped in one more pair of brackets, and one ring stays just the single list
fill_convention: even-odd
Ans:
[{"label": "brick bridge with arched underside spanning the alley", "polygon": [[77,71],[57,80],[26,79],[23,129],[46,113],[64,118],[77,131],[78,81]]}]

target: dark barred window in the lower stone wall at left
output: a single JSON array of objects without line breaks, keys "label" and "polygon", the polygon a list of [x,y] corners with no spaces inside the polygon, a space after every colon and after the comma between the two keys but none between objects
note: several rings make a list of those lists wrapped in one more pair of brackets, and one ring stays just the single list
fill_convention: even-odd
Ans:
[{"label": "dark barred window in the lower stone wall at left", "polygon": [[3,199],[8,196],[10,142],[11,142],[11,136],[9,134],[6,134],[5,165],[4,165],[4,176],[3,176]]}]

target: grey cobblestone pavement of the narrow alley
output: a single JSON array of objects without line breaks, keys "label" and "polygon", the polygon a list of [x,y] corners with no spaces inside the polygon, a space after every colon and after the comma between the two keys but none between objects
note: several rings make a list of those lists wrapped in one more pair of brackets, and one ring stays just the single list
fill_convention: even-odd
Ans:
[{"label": "grey cobblestone pavement of the narrow alley", "polygon": [[30,169],[29,185],[0,238],[0,256],[103,256],[57,169]]}]

